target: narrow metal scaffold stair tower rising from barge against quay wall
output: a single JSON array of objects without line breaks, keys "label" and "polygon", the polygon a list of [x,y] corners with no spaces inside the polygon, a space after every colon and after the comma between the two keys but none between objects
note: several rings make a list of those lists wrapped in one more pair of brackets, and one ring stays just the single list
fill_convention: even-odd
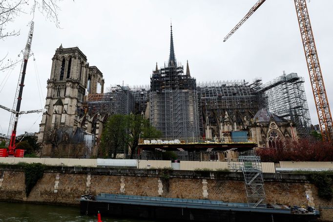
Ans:
[{"label": "narrow metal scaffold stair tower rising from barge against quay wall", "polygon": [[244,175],[246,196],[250,207],[266,207],[266,194],[260,157],[239,156]]}]

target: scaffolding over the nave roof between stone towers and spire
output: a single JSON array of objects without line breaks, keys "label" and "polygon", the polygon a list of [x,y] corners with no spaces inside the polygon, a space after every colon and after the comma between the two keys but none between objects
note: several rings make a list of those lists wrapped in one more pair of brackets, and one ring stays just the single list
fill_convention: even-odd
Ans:
[{"label": "scaffolding over the nave roof between stone towers and spire", "polygon": [[86,112],[90,115],[95,113],[101,115],[133,113],[134,95],[128,86],[111,86],[107,93],[89,94],[86,108]]}]

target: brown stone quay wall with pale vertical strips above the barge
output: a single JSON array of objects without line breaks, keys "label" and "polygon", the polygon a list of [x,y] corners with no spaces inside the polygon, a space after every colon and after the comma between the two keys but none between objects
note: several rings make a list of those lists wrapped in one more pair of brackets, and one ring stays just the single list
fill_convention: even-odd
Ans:
[{"label": "brown stone quay wall with pale vertical strips above the barge", "polygon": [[[333,200],[318,197],[308,174],[264,173],[264,181],[267,203],[299,205],[308,195],[321,219],[333,221]],[[78,205],[81,195],[99,193],[247,202],[238,172],[57,166],[26,197],[23,166],[0,165],[0,201]]]}]

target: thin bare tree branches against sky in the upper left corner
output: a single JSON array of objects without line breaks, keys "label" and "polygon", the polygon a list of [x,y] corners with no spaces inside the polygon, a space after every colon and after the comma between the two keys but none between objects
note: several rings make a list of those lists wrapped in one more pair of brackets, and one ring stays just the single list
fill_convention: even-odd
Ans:
[{"label": "thin bare tree branches against sky in the upper left corner", "polygon": [[[35,12],[39,11],[47,20],[50,20],[60,28],[58,11],[60,0],[0,0],[0,40],[8,37],[20,35],[20,30],[10,28],[9,24],[13,23],[21,14],[30,14],[31,21],[34,20]],[[21,60],[11,60],[7,55],[0,56],[0,71],[14,68]]]}]

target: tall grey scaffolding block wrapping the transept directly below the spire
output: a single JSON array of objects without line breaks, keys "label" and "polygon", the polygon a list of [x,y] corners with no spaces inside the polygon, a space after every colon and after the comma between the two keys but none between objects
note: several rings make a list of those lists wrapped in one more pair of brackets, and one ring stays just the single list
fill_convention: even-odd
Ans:
[{"label": "tall grey scaffolding block wrapping the transept directly below the spire", "polygon": [[184,74],[181,64],[170,63],[150,78],[150,122],[167,140],[197,138],[196,80]]}]

